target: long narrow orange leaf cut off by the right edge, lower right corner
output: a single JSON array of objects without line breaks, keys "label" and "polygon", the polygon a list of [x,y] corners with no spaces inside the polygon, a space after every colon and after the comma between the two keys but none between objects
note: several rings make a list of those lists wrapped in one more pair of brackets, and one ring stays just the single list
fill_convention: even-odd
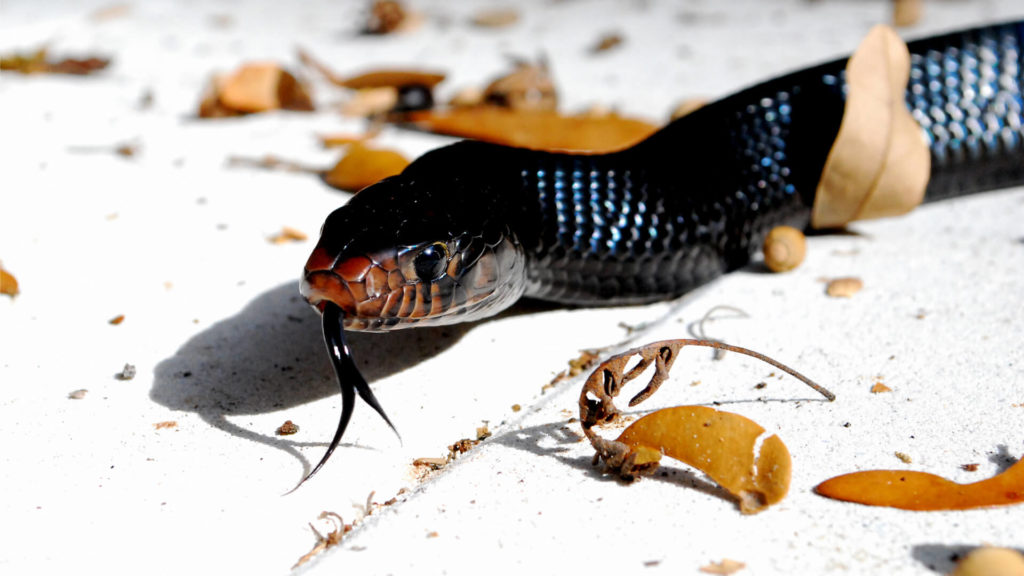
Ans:
[{"label": "long narrow orange leaf cut off by the right edge, lower right corner", "polygon": [[987,480],[956,484],[928,472],[865,470],[826,480],[815,492],[836,500],[904,510],[964,510],[1024,502],[1024,459]]}]

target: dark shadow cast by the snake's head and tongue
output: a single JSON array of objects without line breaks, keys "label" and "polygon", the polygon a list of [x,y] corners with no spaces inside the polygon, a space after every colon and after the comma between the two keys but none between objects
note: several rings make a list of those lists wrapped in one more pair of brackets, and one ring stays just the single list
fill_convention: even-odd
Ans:
[{"label": "dark shadow cast by the snake's head and tongue", "polygon": [[[503,316],[549,308],[523,302]],[[476,323],[382,333],[346,332],[352,358],[371,384],[415,368],[456,344]],[[324,347],[321,319],[295,282],[268,290],[234,316],[189,338],[154,372],[150,399],[171,410],[195,412],[210,426],[284,450],[308,466],[298,448],[327,446],[260,434],[231,417],[264,414],[338,395]]]}]

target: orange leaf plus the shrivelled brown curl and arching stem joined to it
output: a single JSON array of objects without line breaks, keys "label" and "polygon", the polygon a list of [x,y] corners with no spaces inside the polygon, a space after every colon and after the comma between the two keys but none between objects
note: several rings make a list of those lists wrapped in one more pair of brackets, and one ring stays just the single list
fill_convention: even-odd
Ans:
[{"label": "orange leaf plus the shrivelled brown curl and arching stem joined to it", "polygon": [[[610,422],[621,414],[613,399],[627,383],[653,366],[647,385],[629,405],[650,398],[668,379],[680,348],[687,345],[724,348],[757,358],[797,377],[826,399],[836,398],[806,376],[754,351],[710,340],[653,342],[601,363],[580,393],[580,421],[597,452],[595,462],[604,460],[605,469],[634,479],[653,474],[665,454],[700,469],[738,498],[742,512],[756,513],[785,496],[792,474],[785,445],[774,435],[766,438],[765,429],[756,422],[702,406],[680,406],[640,418],[614,441],[594,430],[595,425]],[[634,356],[640,358],[627,369]]]}]

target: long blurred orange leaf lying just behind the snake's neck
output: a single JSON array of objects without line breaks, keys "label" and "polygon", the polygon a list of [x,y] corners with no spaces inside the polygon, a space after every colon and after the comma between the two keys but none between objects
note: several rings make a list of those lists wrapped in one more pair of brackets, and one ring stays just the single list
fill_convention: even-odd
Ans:
[{"label": "long blurred orange leaf lying just behind the snake's neck", "polygon": [[617,115],[562,116],[554,112],[517,112],[489,106],[413,113],[409,120],[438,134],[534,150],[592,154],[629,148],[657,130],[656,126],[642,120]]}]

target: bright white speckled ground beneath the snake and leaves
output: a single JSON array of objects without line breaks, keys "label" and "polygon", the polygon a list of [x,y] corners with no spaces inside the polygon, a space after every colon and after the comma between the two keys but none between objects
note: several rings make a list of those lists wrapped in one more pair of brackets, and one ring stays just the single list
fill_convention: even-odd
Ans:
[{"label": "bright white speckled ground beneath the snake and leaves", "polygon": [[[299,572],[694,574],[733,559],[740,574],[929,574],[983,542],[1024,545],[1020,508],[906,512],[812,492],[868,468],[973,482],[1024,453],[1021,189],[814,237],[791,274],[752,265],[675,302],[526,304],[468,326],[355,334],[402,442],[360,405],[329,465],[284,496],[323,454],[340,401],[297,292],[311,241],[267,237],[283,225],[314,237],[348,195],[227,160],[327,167],[338,153],[314,135],[365,125],[315,79],[315,113],[196,120],[213,72],[297,68],[301,45],[343,73],[441,70],[443,98],[509,55],[546,54],[563,109],[660,122],[683,98],[845,53],[889,19],[881,1],[528,2],[514,26],[481,30],[469,17],[494,4],[411,5],[420,28],[388,37],[357,33],[356,2],[166,0],[105,15],[104,2],[0,5],[4,53],[47,44],[114,60],[89,78],[0,76],[0,259],[22,288],[0,296],[0,572],[286,574],[316,543],[310,523],[330,529],[322,511],[356,527]],[[1010,0],[934,2],[901,32],[1022,14]],[[623,45],[591,54],[608,32]],[[388,128],[380,141],[415,157],[450,140]],[[112,153],[125,143],[137,153]],[[821,279],[839,276],[864,289],[826,297]],[[712,336],[839,397],[736,355],[680,359],[653,404],[718,403],[793,454],[788,497],[754,517],[681,463],[634,485],[602,476],[571,419],[583,376],[545,389],[581,349],[687,337],[718,305],[746,316],[719,313]],[[126,363],[137,375],[120,380]],[[870,394],[879,381],[892,392]],[[88,392],[70,399],[77,389]],[[288,419],[299,433],[275,436]],[[413,465],[484,425],[493,436],[444,469]]]}]

